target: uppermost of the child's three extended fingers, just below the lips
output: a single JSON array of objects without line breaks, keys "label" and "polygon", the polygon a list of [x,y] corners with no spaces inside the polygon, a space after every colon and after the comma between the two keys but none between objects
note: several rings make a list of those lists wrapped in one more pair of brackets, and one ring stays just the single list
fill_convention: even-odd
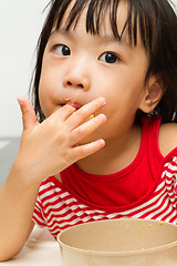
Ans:
[{"label": "uppermost of the child's three extended fingers, just below the lips", "polygon": [[81,123],[83,123],[87,117],[90,117],[93,113],[95,113],[98,109],[105,105],[105,99],[98,98],[77,111],[75,111],[67,120],[67,126],[72,131],[77,127]]}]

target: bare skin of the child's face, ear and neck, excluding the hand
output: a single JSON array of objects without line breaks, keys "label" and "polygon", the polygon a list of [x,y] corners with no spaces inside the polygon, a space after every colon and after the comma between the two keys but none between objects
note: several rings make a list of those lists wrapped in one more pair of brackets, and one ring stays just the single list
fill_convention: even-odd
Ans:
[{"label": "bare skin of the child's face, ear and neck, excluding the hand", "polygon": [[[126,31],[118,42],[107,20],[100,35],[91,35],[85,31],[85,16],[86,10],[76,28],[67,32],[63,30],[64,18],[60,29],[51,33],[43,55],[39,96],[46,117],[63,104],[85,105],[97,96],[106,100],[101,110],[107,119],[105,125],[79,143],[101,137],[106,145],[77,164],[88,173],[108,174],[124,168],[136,156],[142,137],[140,127],[134,124],[136,112],[152,111],[162,89],[155,76],[145,84],[149,59],[139,37],[136,48],[128,45]],[[119,4],[117,17],[121,32],[126,21],[125,4]],[[107,61],[107,54],[115,62]]]}]

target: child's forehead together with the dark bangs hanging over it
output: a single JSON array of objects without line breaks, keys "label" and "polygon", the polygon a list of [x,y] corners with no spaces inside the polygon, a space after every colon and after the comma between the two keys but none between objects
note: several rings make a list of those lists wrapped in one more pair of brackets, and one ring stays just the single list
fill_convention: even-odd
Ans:
[{"label": "child's forehead together with the dark bangs hanging over it", "polygon": [[156,8],[152,1],[139,0],[63,0],[56,1],[53,30],[74,30],[79,23],[93,35],[114,35],[131,47],[144,45],[149,52],[157,27]]}]

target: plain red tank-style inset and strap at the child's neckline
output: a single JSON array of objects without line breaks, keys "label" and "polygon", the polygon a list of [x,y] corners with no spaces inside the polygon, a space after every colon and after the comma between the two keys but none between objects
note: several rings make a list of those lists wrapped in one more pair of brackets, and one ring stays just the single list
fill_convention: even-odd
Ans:
[{"label": "plain red tank-style inset and strap at the child's neckline", "polygon": [[158,149],[160,117],[142,121],[142,143],[135,160],[126,168],[110,175],[93,175],[76,164],[61,172],[62,184],[85,203],[97,206],[126,206],[143,200],[154,190],[163,155]]}]

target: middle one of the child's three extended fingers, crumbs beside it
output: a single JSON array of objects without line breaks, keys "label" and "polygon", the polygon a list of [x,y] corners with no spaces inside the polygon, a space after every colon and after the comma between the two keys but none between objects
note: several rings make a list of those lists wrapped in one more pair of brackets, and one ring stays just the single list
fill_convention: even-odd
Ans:
[{"label": "middle one of the child's three extended fingers, crumbs beside it", "polygon": [[80,143],[83,139],[90,135],[92,132],[97,130],[101,125],[106,122],[105,114],[98,114],[94,119],[85,122],[84,124],[80,125],[75,130],[71,132],[71,146]]}]

